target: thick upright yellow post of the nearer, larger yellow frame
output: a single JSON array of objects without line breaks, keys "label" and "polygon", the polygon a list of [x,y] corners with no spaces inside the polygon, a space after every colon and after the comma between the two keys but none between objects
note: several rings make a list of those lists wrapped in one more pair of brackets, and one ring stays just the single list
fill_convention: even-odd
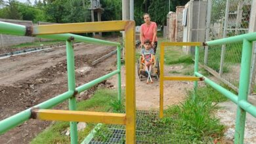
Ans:
[{"label": "thick upright yellow post of the nearer, larger yellow frame", "polygon": [[125,69],[126,69],[126,143],[136,143],[136,97],[135,97],[135,22],[125,26]]}]

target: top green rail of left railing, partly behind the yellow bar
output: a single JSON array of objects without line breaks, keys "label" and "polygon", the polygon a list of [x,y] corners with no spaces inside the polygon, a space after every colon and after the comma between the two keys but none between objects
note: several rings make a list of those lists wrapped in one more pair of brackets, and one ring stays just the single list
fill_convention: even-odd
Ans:
[{"label": "top green rail of left railing, partly behind the yellow bar", "polygon": [[[11,24],[8,22],[0,22],[0,33],[8,34],[8,35],[25,35],[26,34],[26,26],[22,26],[19,24]],[[71,33],[64,34],[54,34],[54,35],[37,35],[36,37],[41,37],[45,39],[58,39],[62,41],[66,41],[70,37],[74,37],[77,42],[84,43],[96,43],[101,45],[112,45],[119,46],[120,43],[112,42],[112,41],[104,41],[101,39],[94,39],[91,37],[83,37],[81,35],[74,35]]]}]

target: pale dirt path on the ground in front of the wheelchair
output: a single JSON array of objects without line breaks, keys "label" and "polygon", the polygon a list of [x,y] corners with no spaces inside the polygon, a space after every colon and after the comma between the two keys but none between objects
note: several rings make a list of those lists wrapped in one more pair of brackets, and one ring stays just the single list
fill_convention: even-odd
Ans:
[{"label": "pale dirt path on the ground in front of the wheelchair", "polygon": [[[165,75],[168,74],[169,69],[179,70],[179,67],[165,65]],[[140,110],[159,110],[159,80],[152,79],[154,83],[146,84],[146,78],[140,81],[136,69],[136,106]],[[117,86],[117,77],[109,80]],[[125,67],[121,69],[121,85],[125,86]],[[175,105],[183,101],[186,97],[186,90],[192,90],[193,82],[182,81],[165,81],[164,82],[164,96],[163,106],[167,108],[168,105]]]}]

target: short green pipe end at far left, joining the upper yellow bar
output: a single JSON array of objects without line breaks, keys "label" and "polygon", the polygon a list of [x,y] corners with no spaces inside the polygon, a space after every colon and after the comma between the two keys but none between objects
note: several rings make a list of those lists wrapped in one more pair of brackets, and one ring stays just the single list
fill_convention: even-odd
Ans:
[{"label": "short green pipe end at far left, joining the upper yellow bar", "polygon": [[25,35],[26,26],[11,24],[9,22],[0,22],[0,33],[8,35]]}]

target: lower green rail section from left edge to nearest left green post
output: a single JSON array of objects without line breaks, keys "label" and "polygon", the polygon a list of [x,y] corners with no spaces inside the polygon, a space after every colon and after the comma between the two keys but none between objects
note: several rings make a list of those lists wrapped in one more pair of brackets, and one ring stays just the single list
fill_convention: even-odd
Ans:
[{"label": "lower green rail section from left edge to nearest left green post", "polygon": [[[59,96],[56,96],[47,101],[44,101],[43,103],[39,103],[38,105],[35,105],[33,107],[39,107],[39,109],[49,109],[49,108],[53,107],[54,105],[62,103],[62,101],[65,101],[66,99],[72,97],[73,94],[74,94],[74,92],[72,92],[72,91],[65,92],[64,94],[60,94]],[[22,124],[22,122],[25,122],[26,120],[28,120],[31,116],[31,109],[32,108],[26,109],[25,111],[17,113],[16,115],[13,115],[12,117],[1,120],[0,121],[0,135],[7,132],[7,130],[10,130],[11,128],[14,128],[15,126],[18,126],[19,124]]]}]

